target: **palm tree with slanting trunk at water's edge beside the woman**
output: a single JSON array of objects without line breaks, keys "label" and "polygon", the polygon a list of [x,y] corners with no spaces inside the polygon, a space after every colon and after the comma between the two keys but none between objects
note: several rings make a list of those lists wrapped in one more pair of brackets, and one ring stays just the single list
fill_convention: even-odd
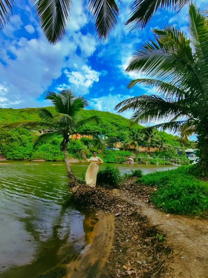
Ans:
[{"label": "palm tree with slanting trunk at water's edge beside the woman", "polygon": [[21,122],[14,122],[9,125],[5,125],[5,128],[16,127],[29,127],[29,128],[44,128],[50,129],[51,132],[44,133],[38,136],[34,145],[45,143],[51,140],[57,135],[61,135],[63,140],[61,142],[61,151],[64,152],[64,161],[66,163],[67,176],[70,178],[70,186],[76,185],[76,178],[73,175],[68,158],[68,142],[70,136],[73,134],[91,135],[92,139],[99,143],[100,138],[92,132],[83,132],[82,127],[89,122],[100,122],[98,116],[91,116],[87,118],[81,118],[79,111],[88,106],[88,100],[83,96],[76,97],[70,89],[63,90],[61,92],[47,91],[45,93],[45,99],[51,100],[56,113],[52,114],[47,108],[27,108],[24,111],[30,113],[36,112],[41,120],[24,120]]}]

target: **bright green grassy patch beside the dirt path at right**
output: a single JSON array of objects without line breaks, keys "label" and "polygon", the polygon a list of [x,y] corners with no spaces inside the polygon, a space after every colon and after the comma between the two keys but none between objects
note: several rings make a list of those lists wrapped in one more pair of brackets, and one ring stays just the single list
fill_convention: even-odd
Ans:
[{"label": "bright green grassy patch beside the dirt path at right", "polygon": [[208,185],[196,178],[200,171],[195,165],[181,166],[170,171],[144,175],[136,182],[156,186],[151,200],[166,212],[199,214],[208,209]]}]

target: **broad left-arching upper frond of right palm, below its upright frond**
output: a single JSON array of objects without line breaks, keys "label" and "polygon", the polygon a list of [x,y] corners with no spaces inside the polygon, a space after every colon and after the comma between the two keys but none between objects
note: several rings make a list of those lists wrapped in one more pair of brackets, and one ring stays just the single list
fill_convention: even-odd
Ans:
[{"label": "broad left-arching upper frond of right palm, below its upright frond", "polygon": [[153,32],[156,42],[150,40],[142,44],[133,54],[126,71],[140,72],[170,82],[185,91],[191,87],[193,95],[198,90],[203,93],[190,39],[174,26],[167,25]]}]

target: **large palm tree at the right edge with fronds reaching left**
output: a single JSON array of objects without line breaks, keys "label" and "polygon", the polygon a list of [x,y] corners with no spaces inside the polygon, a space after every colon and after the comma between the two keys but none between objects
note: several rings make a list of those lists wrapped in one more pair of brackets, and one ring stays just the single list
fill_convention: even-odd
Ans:
[{"label": "large palm tree at the right edge with fronds reaching left", "polygon": [[193,3],[188,28],[189,37],[174,26],[153,30],[155,41],[141,45],[126,71],[147,76],[131,81],[128,88],[143,84],[155,87],[157,95],[129,98],[115,109],[131,109],[136,123],[157,122],[148,130],[194,130],[208,176],[208,20]]}]

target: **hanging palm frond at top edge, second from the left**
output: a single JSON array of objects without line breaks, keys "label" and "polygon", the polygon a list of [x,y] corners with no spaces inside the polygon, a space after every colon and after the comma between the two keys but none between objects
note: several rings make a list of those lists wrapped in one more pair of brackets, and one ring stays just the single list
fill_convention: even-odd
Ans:
[{"label": "hanging palm frond at top edge, second from the left", "polygon": [[71,0],[32,0],[44,35],[51,44],[61,41],[69,22]]}]

